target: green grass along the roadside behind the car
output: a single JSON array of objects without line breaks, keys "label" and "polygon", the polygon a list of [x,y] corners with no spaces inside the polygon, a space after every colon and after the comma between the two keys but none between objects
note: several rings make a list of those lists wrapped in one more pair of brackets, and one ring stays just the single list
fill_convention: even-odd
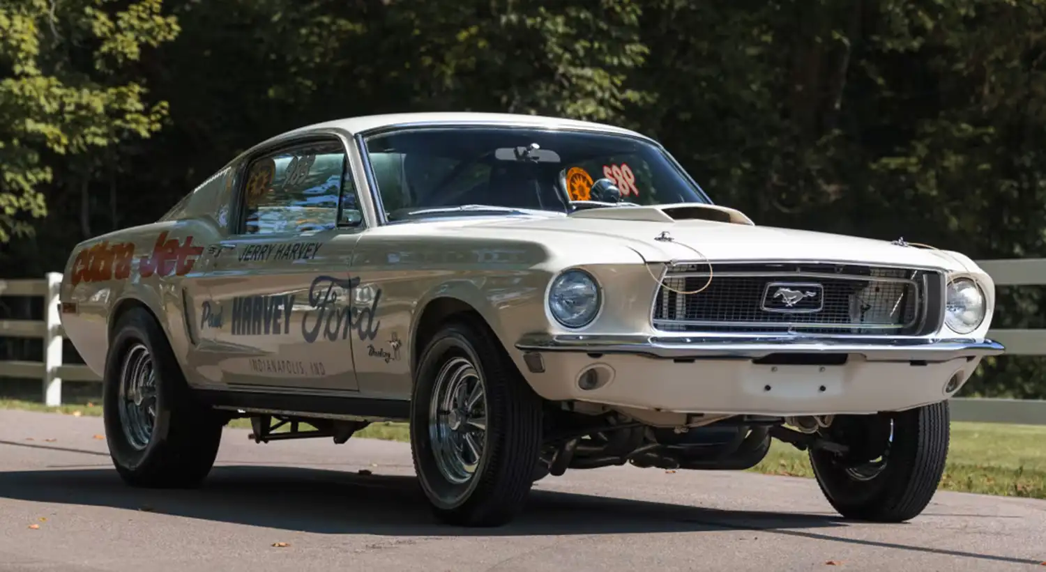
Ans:
[{"label": "green grass along the roadside behind the car", "polygon": [[[0,399],[0,409],[101,415],[101,407],[96,404],[51,408],[33,402]],[[250,429],[250,421],[235,419],[229,426]],[[356,436],[408,440],[407,426],[391,422],[371,424]],[[749,471],[813,477],[806,454],[780,441],[774,441],[766,459]],[[1046,427],[953,422],[952,442],[940,488],[1046,499]]]}]

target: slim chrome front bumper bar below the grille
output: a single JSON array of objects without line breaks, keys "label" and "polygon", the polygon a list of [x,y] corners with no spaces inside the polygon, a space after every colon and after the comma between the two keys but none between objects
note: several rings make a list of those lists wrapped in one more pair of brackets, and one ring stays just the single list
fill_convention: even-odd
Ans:
[{"label": "slim chrome front bumper bar below the grille", "polygon": [[1005,352],[1002,344],[972,339],[930,338],[826,338],[819,336],[633,336],[549,335],[523,336],[521,351],[572,351],[627,353],[663,359],[759,359],[772,353],[847,353],[868,361],[947,362],[957,358],[983,358]]}]

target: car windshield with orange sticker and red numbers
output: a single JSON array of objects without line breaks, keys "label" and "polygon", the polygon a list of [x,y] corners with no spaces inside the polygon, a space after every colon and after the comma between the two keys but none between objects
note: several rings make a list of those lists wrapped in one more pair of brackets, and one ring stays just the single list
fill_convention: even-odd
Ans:
[{"label": "car windshield with orange sticker and red numbers", "polygon": [[366,144],[390,221],[708,202],[660,147],[624,135],[431,128],[377,135]]}]

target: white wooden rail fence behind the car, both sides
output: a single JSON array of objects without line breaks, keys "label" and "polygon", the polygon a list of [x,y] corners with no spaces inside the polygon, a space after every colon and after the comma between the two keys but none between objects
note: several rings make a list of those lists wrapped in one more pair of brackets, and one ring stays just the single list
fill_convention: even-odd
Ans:
[{"label": "white wooden rail fence behind the car, both sides", "polygon": [[[980,260],[978,264],[996,285],[1046,285],[1046,258]],[[0,296],[43,296],[44,320],[0,320],[0,337],[41,338],[44,363],[0,362],[0,377],[38,379],[44,401],[62,404],[62,381],[99,382],[87,366],[64,365],[62,322],[59,320],[59,284],[62,274],[49,273],[44,280],[0,280]],[[1007,354],[1046,356],[1046,329],[993,329],[990,337],[1006,346]],[[1046,425],[1046,401],[952,399],[955,420]]]}]

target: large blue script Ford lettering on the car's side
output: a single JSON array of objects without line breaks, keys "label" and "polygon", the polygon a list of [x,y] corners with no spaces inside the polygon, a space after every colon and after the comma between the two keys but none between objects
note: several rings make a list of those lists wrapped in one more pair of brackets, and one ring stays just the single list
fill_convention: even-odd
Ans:
[{"label": "large blue script Ford lettering on the car's side", "polygon": [[[337,307],[338,292],[342,291],[351,300],[353,290],[360,285],[359,276],[353,278],[337,278],[335,276],[317,276],[309,287],[309,305],[313,310],[305,313],[301,319],[301,336],[305,342],[313,343],[320,334],[331,341],[344,340],[348,330],[356,328],[360,340],[373,340],[381,327],[381,321],[374,322],[378,313],[378,300],[382,297],[381,289],[374,291],[374,299],[367,307],[345,305]],[[310,325],[310,319],[315,319]]]}]

